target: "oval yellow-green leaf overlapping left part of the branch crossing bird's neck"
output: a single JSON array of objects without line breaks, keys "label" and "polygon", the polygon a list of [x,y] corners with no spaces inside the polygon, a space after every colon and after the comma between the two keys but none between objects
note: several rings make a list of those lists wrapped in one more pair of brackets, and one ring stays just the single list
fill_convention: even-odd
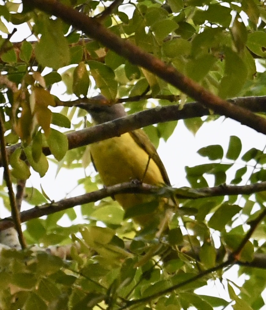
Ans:
[{"label": "oval yellow-green leaf overlapping left part of the branch crossing bird's neck", "polygon": [[67,136],[60,131],[51,128],[50,134],[47,137],[47,143],[54,157],[58,161],[63,159],[68,150]]}]

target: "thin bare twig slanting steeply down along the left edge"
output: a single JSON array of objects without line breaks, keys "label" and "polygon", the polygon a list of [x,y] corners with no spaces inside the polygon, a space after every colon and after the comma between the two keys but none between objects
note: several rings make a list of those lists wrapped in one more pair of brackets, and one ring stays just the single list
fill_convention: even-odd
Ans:
[{"label": "thin bare twig slanting steeply down along the left edge", "polygon": [[22,229],[21,229],[20,214],[16,206],[15,195],[13,192],[12,182],[10,178],[10,171],[8,168],[7,152],[6,152],[5,137],[4,137],[4,126],[3,126],[3,120],[2,120],[1,115],[0,115],[0,149],[1,149],[1,154],[2,154],[3,166],[4,166],[4,179],[6,181],[7,188],[8,188],[11,215],[12,215],[13,222],[15,224],[16,231],[18,233],[21,248],[25,249],[26,243],[25,243]]}]

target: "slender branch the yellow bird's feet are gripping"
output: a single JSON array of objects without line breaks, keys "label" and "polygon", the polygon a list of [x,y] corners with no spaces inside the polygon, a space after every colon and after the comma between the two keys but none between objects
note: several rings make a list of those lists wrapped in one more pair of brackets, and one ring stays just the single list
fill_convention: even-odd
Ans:
[{"label": "slender branch the yellow bird's feet are gripping", "polygon": [[[175,193],[175,195],[177,198],[180,199],[200,199],[225,195],[248,195],[265,190],[266,182],[262,182],[244,186],[223,185],[213,188],[201,188],[197,190],[180,188],[176,189],[177,193]],[[169,196],[169,191],[167,191],[167,188],[164,187],[158,187],[150,184],[136,184],[135,182],[126,182],[102,188],[98,191],[86,193],[84,195],[62,199],[51,204],[35,206],[32,209],[21,212],[20,219],[22,222],[26,222],[30,219],[35,219],[43,215],[49,215],[55,212],[73,208],[74,206],[79,206],[89,202],[95,202],[106,197],[113,197],[114,195],[125,193],[146,195],[153,194],[161,197]],[[172,188],[170,194],[173,194]],[[11,217],[0,220],[0,230],[7,229],[12,226],[13,223]]]}]

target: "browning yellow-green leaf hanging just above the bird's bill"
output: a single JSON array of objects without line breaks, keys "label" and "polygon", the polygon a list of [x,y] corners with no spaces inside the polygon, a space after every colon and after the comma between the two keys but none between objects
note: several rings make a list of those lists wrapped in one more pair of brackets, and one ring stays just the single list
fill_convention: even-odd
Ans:
[{"label": "browning yellow-green leaf hanging just above the bird's bill", "polygon": [[90,79],[85,63],[82,61],[74,69],[73,72],[73,93],[80,97],[80,95],[87,96],[90,86]]}]

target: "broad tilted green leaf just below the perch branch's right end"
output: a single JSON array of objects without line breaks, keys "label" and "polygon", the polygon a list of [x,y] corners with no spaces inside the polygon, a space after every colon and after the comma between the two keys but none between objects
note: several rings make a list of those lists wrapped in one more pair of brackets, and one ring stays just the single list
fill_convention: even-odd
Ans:
[{"label": "broad tilted green leaf just below the perch branch's right end", "polygon": [[222,204],[218,210],[215,211],[209,220],[209,227],[222,231],[225,225],[232,219],[234,215],[240,212],[241,207],[237,205]]}]

